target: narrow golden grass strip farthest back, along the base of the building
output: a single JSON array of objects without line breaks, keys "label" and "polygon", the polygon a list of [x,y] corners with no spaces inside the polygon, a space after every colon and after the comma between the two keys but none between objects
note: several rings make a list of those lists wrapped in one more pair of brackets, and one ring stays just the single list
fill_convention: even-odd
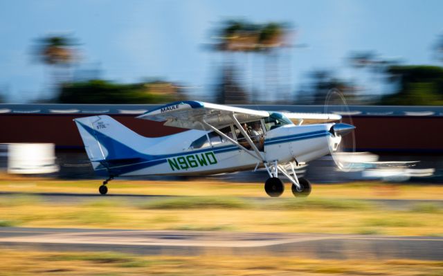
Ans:
[{"label": "narrow golden grass strip farthest back, along the base of the building", "polygon": [[[1,192],[98,193],[100,180],[61,181],[46,178],[0,177]],[[176,196],[262,196],[263,183],[227,183],[199,178],[192,181],[123,181],[109,183],[112,194],[150,194]],[[291,187],[282,195],[292,198]],[[316,185],[311,197],[334,199],[443,199],[441,185],[401,185],[364,181],[359,183]]]}]

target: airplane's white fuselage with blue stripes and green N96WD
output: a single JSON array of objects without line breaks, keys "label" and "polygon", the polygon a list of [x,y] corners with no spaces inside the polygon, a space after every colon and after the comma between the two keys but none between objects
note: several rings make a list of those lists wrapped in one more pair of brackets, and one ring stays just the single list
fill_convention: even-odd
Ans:
[{"label": "airplane's white fuselage with blue stripes and green N96WD", "polygon": [[[330,145],[340,142],[329,131],[332,125],[288,124],[265,130],[260,154],[266,162],[278,163],[293,160],[309,162],[320,158],[329,154]],[[141,158],[92,163],[98,174],[116,176],[218,174],[263,166],[262,161],[254,158],[253,154],[248,154],[226,139],[208,141],[206,145],[196,148],[195,142],[207,134],[210,132],[190,130],[156,138],[145,147],[138,145]],[[249,150],[253,152],[253,149]]]}]

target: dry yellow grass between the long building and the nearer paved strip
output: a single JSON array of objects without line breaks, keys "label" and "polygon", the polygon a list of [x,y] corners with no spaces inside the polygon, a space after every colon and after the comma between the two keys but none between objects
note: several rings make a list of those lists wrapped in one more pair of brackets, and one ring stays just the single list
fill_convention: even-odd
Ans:
[{"label": "dry yellow grass between the long building and the nearer paved strip", "polygon": [[[0,191],[96,192],[98,181],[3,180]],[[113,181],[110,192],[195,195],[147,202],[97,197],[48,202],[37,195],[0,196],[0,226],[226,230],[382,235],[443,234],[442,206],[415,203],[404,210],[365,199],[442,199],[437,185],[314,185],[309,199],[267,199],[260,184],[214,181]],[[259,198],[257,198],[259,197]],[[260,197],[266,200],[260,200]]]}]

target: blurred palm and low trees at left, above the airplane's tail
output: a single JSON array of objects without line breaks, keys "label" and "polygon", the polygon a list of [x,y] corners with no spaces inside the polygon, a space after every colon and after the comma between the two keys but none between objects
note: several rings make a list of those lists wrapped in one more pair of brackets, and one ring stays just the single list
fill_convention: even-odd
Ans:
[{"label": "blurred palm and low trees at left, above the airplane's tail", "polygon": [[[158,104],[186,97],[177,84],[153,80],[118,84],[108,80],[74,81],[71,67],[78,60],[75,39],[48,36],[38,40],[35,56],[52,69],[53,102],[72,104]],[[1,99],[0,99],[1,100]]]}]

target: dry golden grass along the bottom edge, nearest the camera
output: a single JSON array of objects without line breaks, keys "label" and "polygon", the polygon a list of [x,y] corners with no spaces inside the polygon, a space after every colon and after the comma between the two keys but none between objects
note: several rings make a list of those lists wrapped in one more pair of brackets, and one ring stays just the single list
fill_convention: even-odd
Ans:
[{"label": "dry golden grass along the bottom edge, nearest the camera", "polygon": [[443,275],[442,261],[136,256],[0,248],[0,275]]}]

